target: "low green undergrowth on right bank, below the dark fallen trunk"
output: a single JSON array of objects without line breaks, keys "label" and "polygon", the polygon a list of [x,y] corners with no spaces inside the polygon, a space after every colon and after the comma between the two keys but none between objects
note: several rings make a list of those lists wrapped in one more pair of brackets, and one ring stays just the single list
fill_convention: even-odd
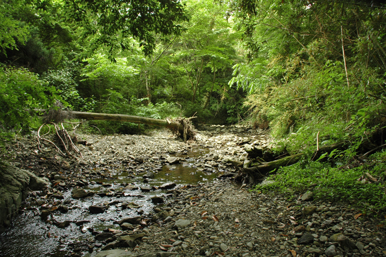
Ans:
[{"label": "low green undergrowth on right bank, below the dark fallen trunk", "polygon": [[329,162],[299,162],[280,168],[254,190],[277,192],[294,197],[310,190],[314,199],[341,202],[364,213],[386,212],[386,151],[376,153],[363,163],[336,166]]}]

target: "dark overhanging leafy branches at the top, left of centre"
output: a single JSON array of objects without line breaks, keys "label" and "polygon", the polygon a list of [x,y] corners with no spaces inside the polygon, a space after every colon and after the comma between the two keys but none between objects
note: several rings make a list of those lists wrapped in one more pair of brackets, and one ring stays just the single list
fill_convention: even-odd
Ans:
[{"label": "dark overhanging leafy branches at the top, left of centre", "polygon": [[106,45],[112,54],[131,49],[125,39],[134,36],[145,55],[155,48],[154,34],[179,34],[180,21],[186,20],[184,6],[177,0],[81,1],[66,0],[69,18],[84,26],[84,35],[92,35],[91,48]]}]

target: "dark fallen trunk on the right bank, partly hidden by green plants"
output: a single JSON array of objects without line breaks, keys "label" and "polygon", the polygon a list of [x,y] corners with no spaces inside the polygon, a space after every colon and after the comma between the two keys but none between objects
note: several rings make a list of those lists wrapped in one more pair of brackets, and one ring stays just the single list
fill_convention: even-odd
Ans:
[{"label": "dark fallen trunk on the right bank, partly hidden by green plants", "polygon": [[[318,159],[322,154],[330,153],[332,150],[343,149],[345,145],[347,145],[347,143],[347,141],[342,141],[339,143],[322,146],[321,148],[319,148],[319,151],[313,154],[312,160]],[[238,173],[238,177],[247,177],[246,180],[249,180],[249,183],[256,183],[257,180],[267,176],[269,172],[280,167],[290,166],[298,162],[304,155],[304,153],[295,154],[278,160],[261,163],[251,168],[242,168]]]}]

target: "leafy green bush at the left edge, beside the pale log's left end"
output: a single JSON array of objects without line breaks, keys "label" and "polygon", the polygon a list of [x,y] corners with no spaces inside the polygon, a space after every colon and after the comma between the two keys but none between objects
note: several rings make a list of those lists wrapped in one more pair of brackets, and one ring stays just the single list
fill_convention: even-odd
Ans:
[{"label": "leafy green bush at the left edge, beside the pale log's left end", "polygon": [[36,117],[35,108],[54,103],[56,90],[26,69],[1,67],[0,122],[3,130],[29,129]]}]

